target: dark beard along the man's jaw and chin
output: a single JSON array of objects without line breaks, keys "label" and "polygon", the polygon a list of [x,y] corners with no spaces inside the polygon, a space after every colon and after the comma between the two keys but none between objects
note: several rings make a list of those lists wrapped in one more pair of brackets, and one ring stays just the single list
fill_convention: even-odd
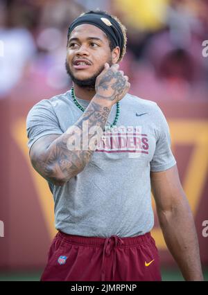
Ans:
[{"label": "dark beard along the man's jaw and chin", "polygon": [[[108,60],[108,64],[110,66],[112,66],[112,58],[110,58],[110,60]],[[100,66],[98,71],[94,75],[92,75],[92,77],[89,77],[85,80],[79,80],[73,75],[67,60],[65,62],[65,66],[66,66],[67,74],[69,75],[69,77],[71,78],[73,83],[75,83],[79,87],[85,88],[86,90],[87,89],[89,89],[89,90],[95,89],[96,78],[98,77],[98,75],[100,75],[100,73],[102,73],[102,71],[104,69],[104,64],[103,64],[102,66]]]}]

